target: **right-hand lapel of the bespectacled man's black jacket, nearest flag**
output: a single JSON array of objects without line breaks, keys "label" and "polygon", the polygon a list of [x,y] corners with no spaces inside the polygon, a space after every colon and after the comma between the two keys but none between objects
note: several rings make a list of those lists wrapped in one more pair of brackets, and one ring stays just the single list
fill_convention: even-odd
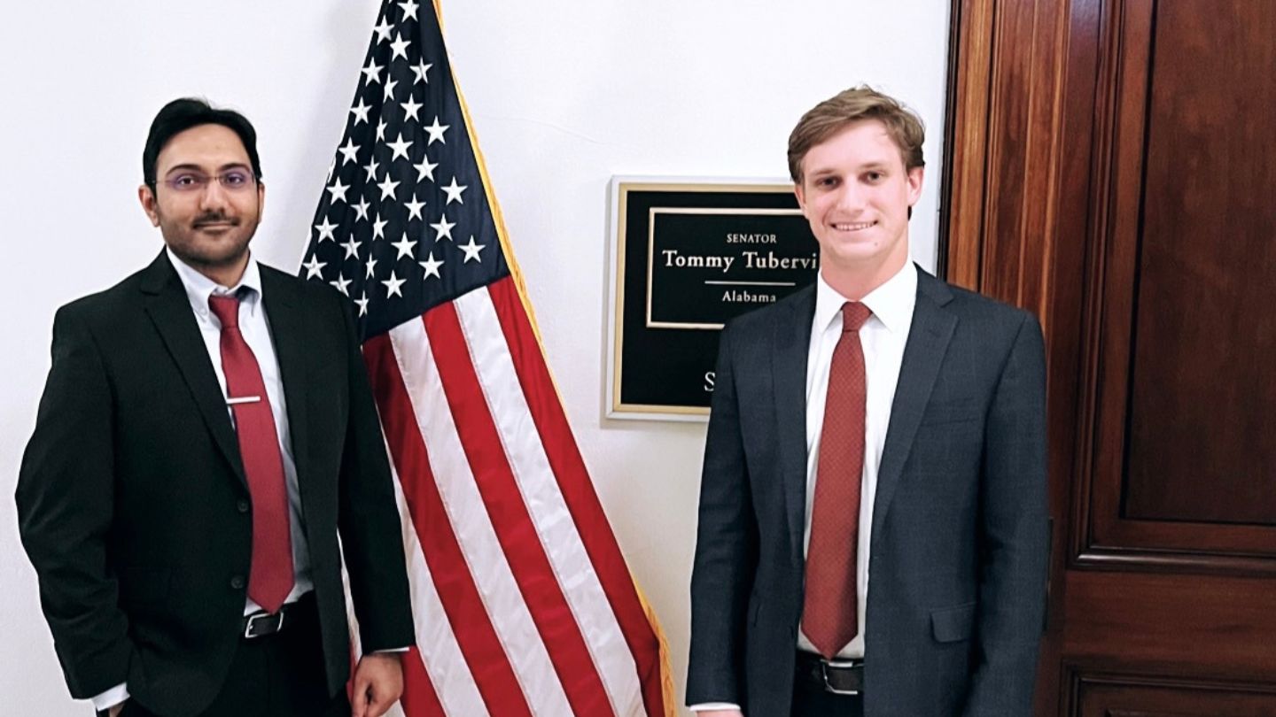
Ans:
[{"label": "right-hand lapel of the bespectacled man's black jacket, nearest flag", "polygon": [[[287,403],[288,434],[292,439],[292,461],[297,468],[297,482],[310,475],[306,466],[306,356],[305,311],[297,296],[296,286],[287,281],[291,277],[281,274],[264,264],[262,270],[262,304],[265,306],[267,323],[271,327],[271,339],[274,342],[274,356],[279,361],[279,380],[283,381],[283,401]],[[306,495],[301,491],[302,496]]]}]

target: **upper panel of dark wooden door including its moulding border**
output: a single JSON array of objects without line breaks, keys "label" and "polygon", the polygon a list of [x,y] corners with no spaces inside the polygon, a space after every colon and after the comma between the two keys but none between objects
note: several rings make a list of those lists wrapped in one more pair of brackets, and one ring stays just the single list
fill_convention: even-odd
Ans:
[{"label": "upper panel of dark wooden door including its moulding border", "polygon": [[[1100,140],[1087,148],[1096,330],[1083,348],[1095,370],[1082,398],[1094,459],[1079,463],[1081,563],[1276,574],[1276,430],[1263,430],[1276,429],[1276,333],[1265,328],[1276,204],[1248,211],[1276,186],[1276,149],[1253,129],[1230,131],[1271,114],[1225,110],[1271,96],[1272,82],[1217,82],[1210,52],[1236,26],[1271,24],[1276,6],[1240,4],[1258,17],[1212,11],[1228,3],[1105,5]],[[1247,54],[1276,61],[1276,42]],[[1233,174],[1243,181],[1222,179]]]}]

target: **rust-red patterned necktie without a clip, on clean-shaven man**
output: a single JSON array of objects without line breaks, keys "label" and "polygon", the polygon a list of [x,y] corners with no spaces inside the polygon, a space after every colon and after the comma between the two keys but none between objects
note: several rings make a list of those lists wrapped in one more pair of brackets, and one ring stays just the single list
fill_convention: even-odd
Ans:
[{"label": "rust-red patterned necktie without a clip, on clean-shaven man", "polygon": [[828,658],[859,633],[855,565],[865,403],[859,330],[872,314],[868,306],[855,301],[842,305],[842,336],[828,369],[828,398],[815,466],[801,625],[815,649]]}]

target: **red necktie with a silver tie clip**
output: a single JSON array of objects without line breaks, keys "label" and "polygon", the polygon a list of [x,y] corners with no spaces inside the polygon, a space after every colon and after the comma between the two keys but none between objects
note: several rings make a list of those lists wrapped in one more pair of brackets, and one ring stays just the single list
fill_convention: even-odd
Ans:
[{"label": "red necktie with a silver tie clip", "polygon": [[277,612],[292,591],[292,537],[288,533],[288,489],[283,478],[279,436],[262,369],[239,328],[239,299],[209,296],[208,307],[222,323],[222,373],[227,403],[235,412],[240,458],[253,496],[253,566],[248,596],[267,612]]}]

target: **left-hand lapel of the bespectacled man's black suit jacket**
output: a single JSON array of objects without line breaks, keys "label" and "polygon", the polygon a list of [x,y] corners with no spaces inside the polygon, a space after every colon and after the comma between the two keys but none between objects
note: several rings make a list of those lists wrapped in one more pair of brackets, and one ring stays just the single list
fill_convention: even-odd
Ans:
[{"label": "left-hand lapel of the bespectacled man's black suit jacket", "polygon": [[177,370],[195,399],[208,431],[213,435],[213,443],[246,487],[248,481],[244,478],[244,464],[240,461],[235,430],[231,427],[230,413],[208,357],[208,348],[190,310],[186,290],[182,288],[177,272],[163,251],[147,267],[142,279],[142,292],[145,295],[147,314],[160,332],[174,362],[177,364]]}]

